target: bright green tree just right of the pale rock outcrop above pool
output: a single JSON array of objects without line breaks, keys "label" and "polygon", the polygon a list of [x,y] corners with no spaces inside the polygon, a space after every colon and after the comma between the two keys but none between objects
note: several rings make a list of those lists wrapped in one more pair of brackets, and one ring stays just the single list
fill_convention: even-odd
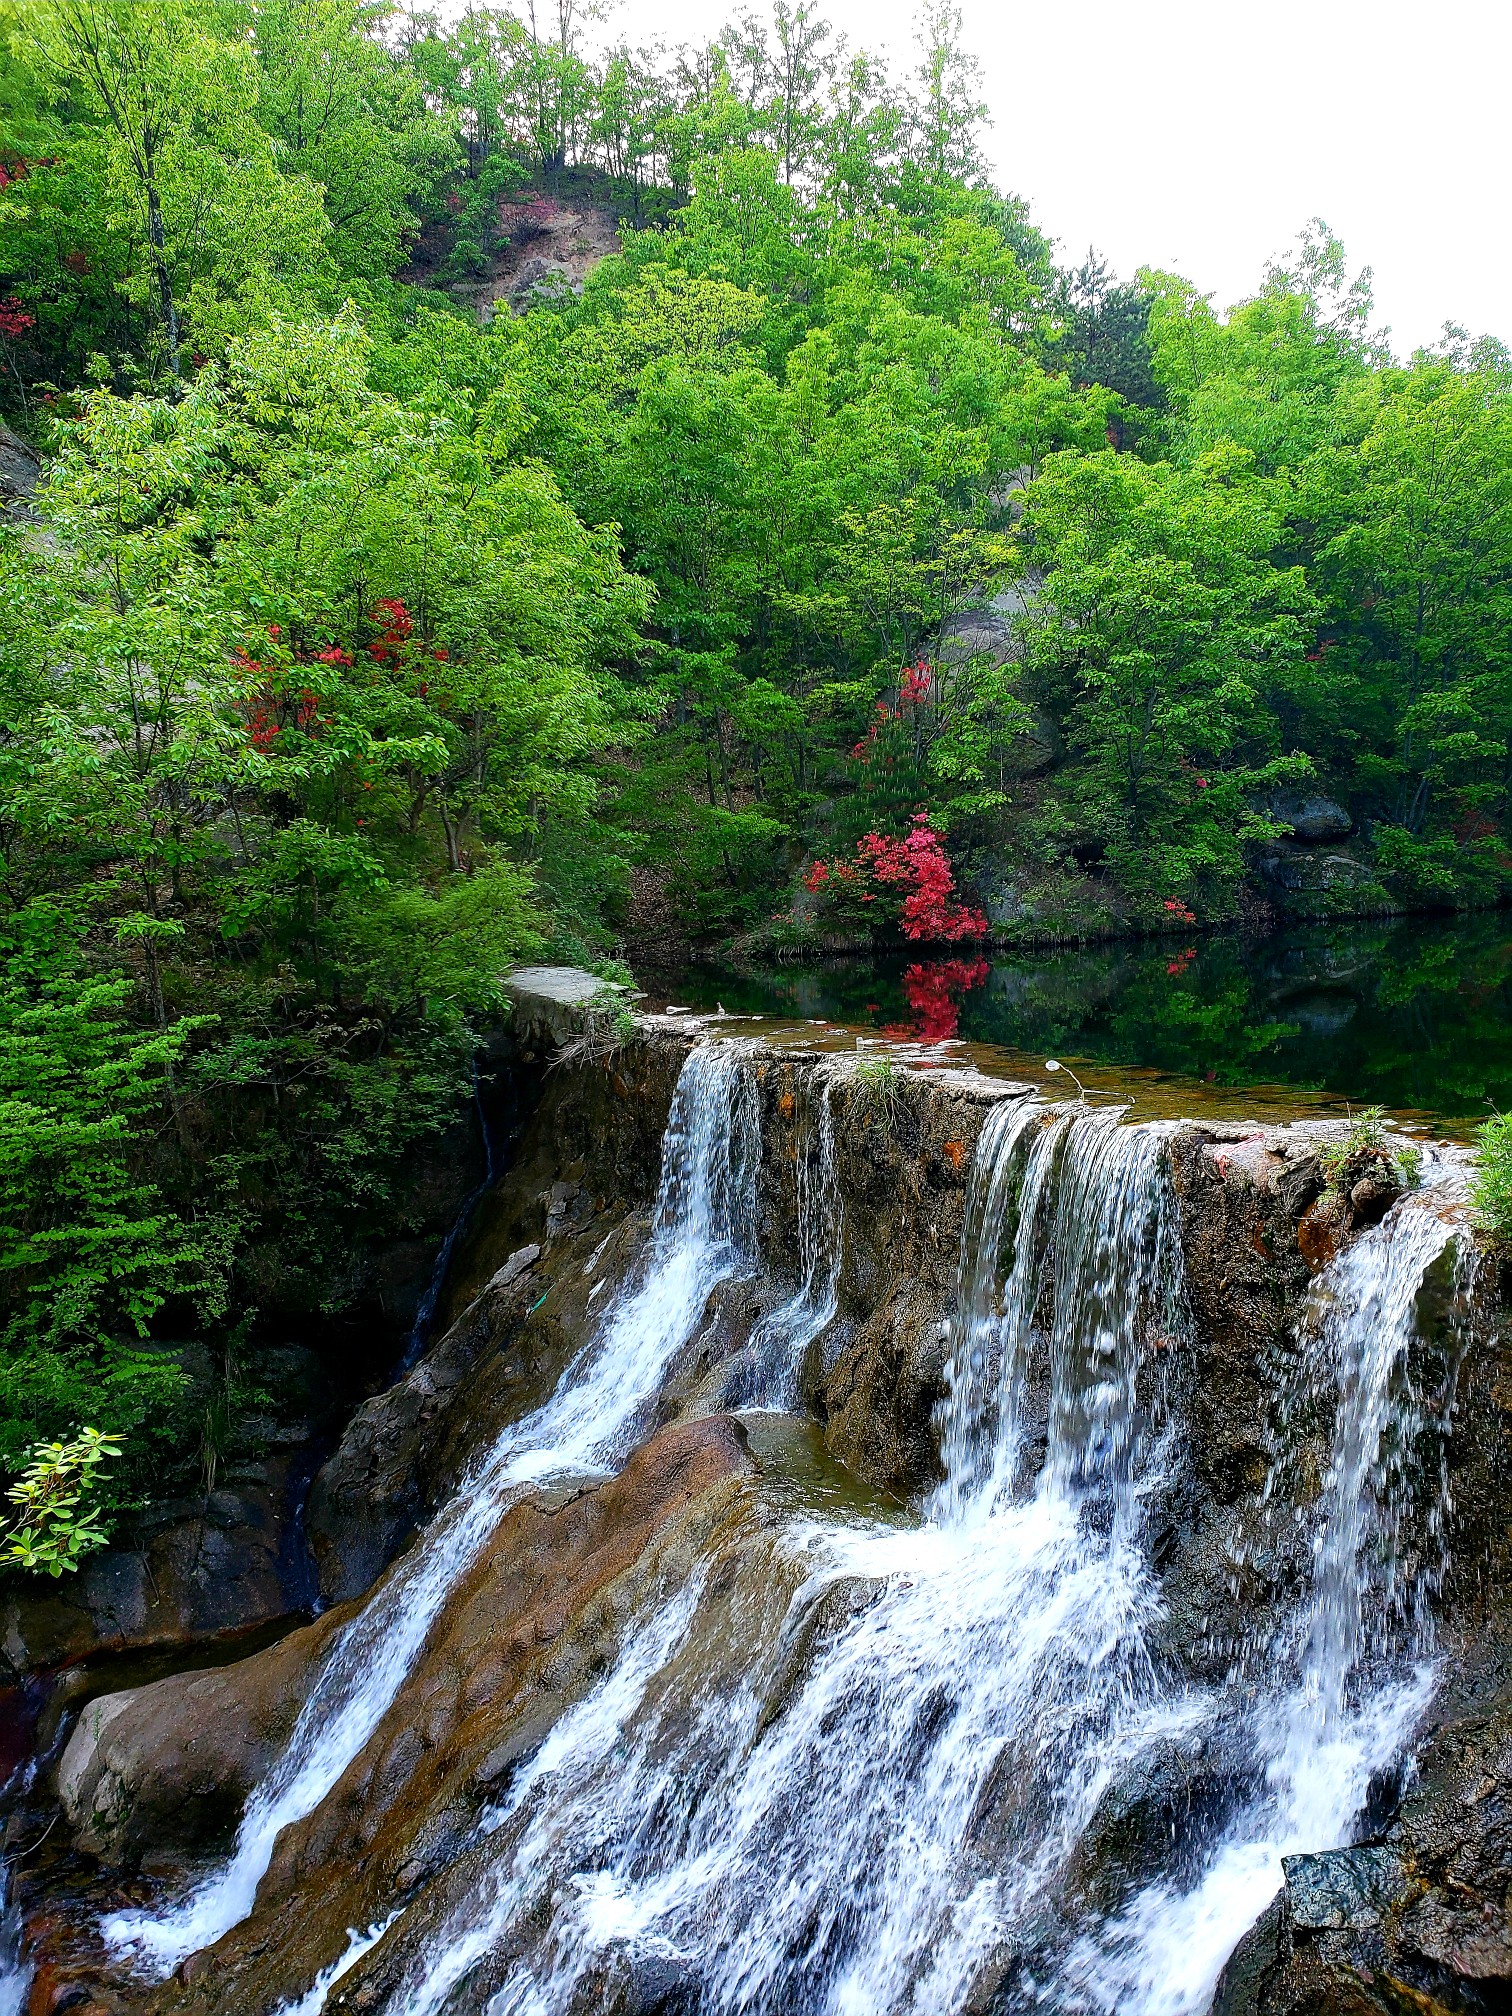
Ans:
[{"label": "bright green tree just right of the pale rock outcrop above pool", "polygon": [[1264,696],[1294,675],[1310,617],[1300,569],[1272,564],[1278,528],[1238,448],[1189,472],[1062,454],[1030,494],[1028,663],[1081,758],[1091,831],[1151,919],[1222,913],[1244,841],[1268,831],[1246,810],[1286,774]]}]

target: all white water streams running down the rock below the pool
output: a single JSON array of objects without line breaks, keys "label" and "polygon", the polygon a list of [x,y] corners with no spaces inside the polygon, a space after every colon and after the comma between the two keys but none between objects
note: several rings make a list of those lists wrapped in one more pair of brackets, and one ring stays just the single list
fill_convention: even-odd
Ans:
[{"label": "all white water streams running down the rock below the pool", "polygon": [[[780,1409],[837,1308],[831,1068],[798,1157],[800,1278],[758,1325],[736,1401],[776,1472],[784,1437],[802,1450]],[[1458,1220],[1407,1195],[1318,1276],[1280,1409],[1327,1425],[1310,1572],[1222,1683],[1193,1679],[1155,1558],[1183,1450],[1165,1367],[1187,1325],[1167,1139],[1117,1111],[994,1105],[929,1500],[889,1508],[790,1458],[764,1516],[659,1589],[482,1814],[439,1919],[355,1927],[286,2016],[317,2016],[389,1943],[397,1972],[369,2004],[387,2016],[564,2016],[605,1966],[649,1984],[645,2006],[655,1990],[706,2016],[1200,2016],[1280,1859],[1353,1839],[1433,1687],[1435,1560],[1399,1530],[1439,1490],[1441,1413],[1409,1357]],[[714,1288],[756,1266],[758,1161],[750,1048],[696,1044],[637,1278],[333,1641],[232,1857],[105,1921],[137,1968],[167,1976],[254,1909],[278,1833],[401,1699],[504,1508],[623,1462]],[[1274,1516],[1294,1526],[1292,1454],[1282,1433]],[[1179,1829],[1131,1820],[1151,1786],[1175,1788]]]}]

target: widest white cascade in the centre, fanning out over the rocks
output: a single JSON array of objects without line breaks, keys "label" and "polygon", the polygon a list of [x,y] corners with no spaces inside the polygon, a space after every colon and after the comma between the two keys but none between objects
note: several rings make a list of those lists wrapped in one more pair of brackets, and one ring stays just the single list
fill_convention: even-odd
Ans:
[{"label": "widest white cascade in the centre, fanning out over the rocks", "polygon": [[[1026,1159],[1034,1183],[994,1185],[984,1161],[974,1191],[974,1236],[1012,1246],[1022,1290],[998,1316],[996,1270],[964,1268],[946,1445],[976,1482],[952,1472],[915,1530],[788,1526],[776,1544],[808,1574],[782,1641],[814,1635],[780,1710],[782,1643],[732,1647],[712,1627],[685,1661],[698,1693],[639,1687],[639,1720],[617,1724],[603,1760],[520,1788],[492,1875],[389,2016],[437,2016],[544,1899],[550,1929],[490,2016],[554,2016],[607,1945],[689,1966],[710,2012],[943,2016],[1012,1945],[1119,1770],[1202,1714],[1147,1651],[1135,1375],[1179,1288],[1161,1129],[1004,1109],[984,1155]],[[1030,1359],[1048,1375],[1050,1439],[1032,1492],[1012,1496]],[[956,1415],[988,1385],[984,1450]],[[681,1635],[698,1639],[700,1619]]]}]

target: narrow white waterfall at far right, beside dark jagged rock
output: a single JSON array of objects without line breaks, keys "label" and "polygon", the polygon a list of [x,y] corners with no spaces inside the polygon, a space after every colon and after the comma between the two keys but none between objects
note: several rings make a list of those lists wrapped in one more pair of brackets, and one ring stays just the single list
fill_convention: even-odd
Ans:
[{"label": "narrow white waterfall at far right, beside dark jagged rock", "polygon": [[[1318,1278],[1298,1389],[1333,1389],[1333,1452],[1316,1506],[1312,1579],[1284,1643],[1252,1675],[1242,1742],[1256,1794],[1189,1885],[1155,1883],[1070,1954],[1062,2008],[1198,2016],[1230,1951],[1276,1895],[1282,1857],[1343,1847],[1371,1780],[1403,1756],[1431,1695],[1435,1562],[1403,1581],[1403,1484],[1427,1468],[1407,1377],[1417,1298],[1458,1224],[1403,1200]],[[1415,1452],[1415,1462],[1405,1452]],[[1429,1522],[1435,1524],[1435,1522]]]}]

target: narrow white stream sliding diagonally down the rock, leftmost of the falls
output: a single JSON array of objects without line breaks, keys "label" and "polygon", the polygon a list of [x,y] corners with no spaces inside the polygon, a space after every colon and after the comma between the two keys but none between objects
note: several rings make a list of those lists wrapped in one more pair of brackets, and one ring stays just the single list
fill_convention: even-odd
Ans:
[{"label": "narrow white stream sliding diagonally down the rock, leftmost of the falls", "polygon": [[248,1800],[230,1861],[183,1901],[105,1919],[111,1945],[169,1974],[238,1925],[280,1831],[312,1812],[391,1708],[435,1615],[524,1482],[603,1474],[720,1280],[754,1264],[760,1123],[750,1048],[689,1050],[661,1149],[639,1282],[607,1310],[550,1399],[496,1439],[470,1482],[343,1629],[280,1760]]}]

